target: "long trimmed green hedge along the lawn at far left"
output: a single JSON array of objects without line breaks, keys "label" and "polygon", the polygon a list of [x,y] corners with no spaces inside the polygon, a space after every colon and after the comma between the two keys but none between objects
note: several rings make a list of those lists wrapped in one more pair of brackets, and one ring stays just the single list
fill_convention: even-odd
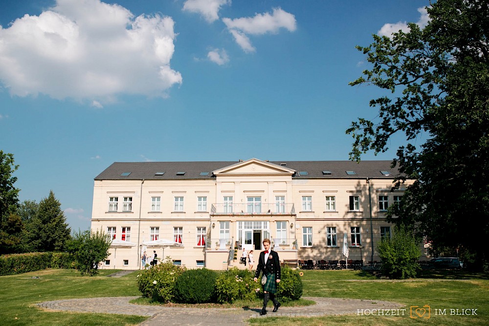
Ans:
[{"label": "long trimmed green hedge along the lawn at far left", "polygon": [[63,252],[35,252],[0,256],[0,275],[14,275],[46,268],[72,268],[73,257]]}]

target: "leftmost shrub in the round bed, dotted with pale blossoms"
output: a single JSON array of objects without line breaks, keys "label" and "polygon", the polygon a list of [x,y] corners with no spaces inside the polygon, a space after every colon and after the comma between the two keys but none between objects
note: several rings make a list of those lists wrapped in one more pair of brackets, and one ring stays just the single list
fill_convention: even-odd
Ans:
[{"label": "leftmost shrub in the round bed, dotted with pale blossoms", "polygon": [[175,283],[184,268],[167,261],[137,275],[137,286],[144,297],[152,301],[168,303],[175,298]]}]

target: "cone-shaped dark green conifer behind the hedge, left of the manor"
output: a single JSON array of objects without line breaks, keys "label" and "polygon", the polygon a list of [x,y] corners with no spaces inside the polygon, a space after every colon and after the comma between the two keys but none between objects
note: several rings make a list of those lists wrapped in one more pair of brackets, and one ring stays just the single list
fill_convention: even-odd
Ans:
[{"label": "cone-shaped dark green conifer behind the hedge, left of the manor", "polygon": [[39,203],[37,215],[29,223],[30,251],[61,251],[70,239],[71,229],[66,223],[61,203],[53,191]]}]

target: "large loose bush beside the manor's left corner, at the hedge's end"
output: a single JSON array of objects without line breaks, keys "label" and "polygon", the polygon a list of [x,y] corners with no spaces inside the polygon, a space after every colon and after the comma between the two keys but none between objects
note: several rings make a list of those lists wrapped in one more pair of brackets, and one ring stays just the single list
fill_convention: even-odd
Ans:
[{"label": "large loose bush beside the manor's left corner, at the hedge's end", "polygon": [[98,263],[109,257],[112,239],[102,231],[78,231],[67,242],[67,251],[75,258],[75,268],[81,275],[93,276],[98,273]]}]

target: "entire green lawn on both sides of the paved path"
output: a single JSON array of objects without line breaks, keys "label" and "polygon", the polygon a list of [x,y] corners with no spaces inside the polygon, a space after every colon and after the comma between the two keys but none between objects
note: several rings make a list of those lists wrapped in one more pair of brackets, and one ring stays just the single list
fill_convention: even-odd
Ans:
[{"label": "entire green lawn on both sides of the paved path", "polygon": [[[112,270],[96,277],[82,277],[74,270],[44,270],[0,277],[0,325],[137,325],[145,317],[92,313],[46,312],[33,306],[43,301],[138,296],[136,273],[108,278]],[[39,279],[33,279],[39,276]],[[455,272],[425,272],[408,281],[378,280],[359,271],[304,271],[304,296],[387,300],[405,305],[405,316],[327,316],[313,318],[254,318],[252,325],[489,325],[489,280],[487,275]],[[455,280],[459,278],[461,280]],[[429,319],[409,318],[410,306],[429,305]],[[477,316],[450,315],[450,309],[477,308]],[[436,315],[435,309],[446,309]],[[437,310],[438,311],[438,310]]]}]

